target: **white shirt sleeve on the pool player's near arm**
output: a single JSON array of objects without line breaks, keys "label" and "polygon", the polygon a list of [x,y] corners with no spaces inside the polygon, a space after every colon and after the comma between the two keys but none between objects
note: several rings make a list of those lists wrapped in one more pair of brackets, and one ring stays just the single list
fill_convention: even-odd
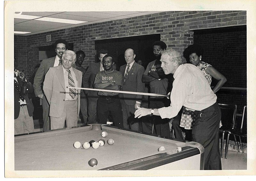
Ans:
[{"label": "white shirt sleeve on the pool player's near arm", "polygon": [[171,105],[169,107],[159,108],[158,112],[162,119],[172,118],[178,115],[183,103],[188,96],[188,80],[180,77],[173,82],[171,92]]}]

